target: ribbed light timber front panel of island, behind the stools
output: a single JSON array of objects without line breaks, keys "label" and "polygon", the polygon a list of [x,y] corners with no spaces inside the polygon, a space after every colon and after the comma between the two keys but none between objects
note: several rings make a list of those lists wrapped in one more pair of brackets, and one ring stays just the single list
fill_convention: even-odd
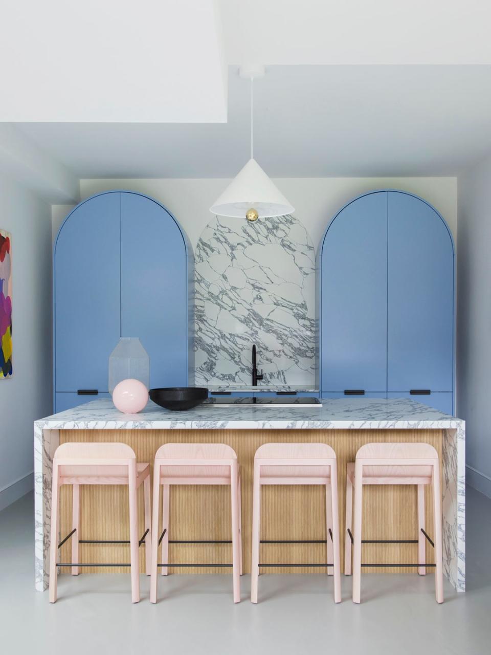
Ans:
[{"label": "ribbed light timber front panel of island, behind the stools", "polygon": [[[340,552],[344,562],[346,463],[354,461],[357,449],[370,441],[424,441],[437,449],[442,461],[442,430],[60,430],[60,442],[122,441],[136,452],[137,461],[153,463],[155,452],[162,443],[227,443],[238,455],[242,466],[242,521],[244,572],[250,572],[251,512],[253,458],[263,443],[312,442],[329,443],[338,458],[340,502]],[[128,538],[128,490],[124,487],[83,487],[81,495],[81,538]],[[228,487],[173,487],[170,508],[170,539],[230,538],[230,491]],[[363,538],[416,539],[416,487],[364,487]],[[139,531],[143,534],[143,498],[139,494]],[[62,535],[71,529],[71,488],[62,489]],[[263,487],[261,538],[325,540],[325,489],[323,487]],[[426,491],[427,526],[433,534],[431,491]],[[160,534],[160,525],[159,525]],[[144,572],[143,546],[140,549],[141,572]],[[62,548],[62,561],[70,561],[69,542]],[[81,561],[94,563],[129,561],[127,546],[81,546]],[[224,545],[171,544],[172,563],[228,563],[231,547]],[[365,544],[365,562],[417,562],[415,544]],[[264,563],[325,562],[325,544],[262,544]],[[433,561],[427,545],[427,561]],[[92,569],[84,569],[91,572]],[[94,572],[100,569],[94,569]],[[263,572],[309,572],[324,569],[285,569],[271,567]],[[416,572],[416,569],[364,569],[365,572]],[[429,569],[431,571],[431,569]],[[63,570],[62,572],[67,572]],[[125,572],[111,568],[107,572]],[[189,573],[190,569],[175,568],[174,573]],[[223,573],[227,569],[206,567],[192,572]]]}]

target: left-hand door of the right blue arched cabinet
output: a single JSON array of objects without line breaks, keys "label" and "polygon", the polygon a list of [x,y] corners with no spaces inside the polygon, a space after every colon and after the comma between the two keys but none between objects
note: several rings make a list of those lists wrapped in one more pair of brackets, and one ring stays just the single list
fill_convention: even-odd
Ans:
[{"label": "left-hand door of the right blue arched cabinet", "polygon": [[387,388],[387,193],[344,207],[329,225],[321,267],[321,393]]}]

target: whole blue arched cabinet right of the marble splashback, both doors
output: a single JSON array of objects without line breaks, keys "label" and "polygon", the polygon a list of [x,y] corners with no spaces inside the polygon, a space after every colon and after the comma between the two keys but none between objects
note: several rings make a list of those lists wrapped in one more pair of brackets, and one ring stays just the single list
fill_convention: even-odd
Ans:
[{"label": "whole blue arched cabinet right of the marble splashback, both doors", "polygon": [[403,191],[335,215],[318,253],[324,398],[414,398],[453,413],[454,243],[443,217]]}]

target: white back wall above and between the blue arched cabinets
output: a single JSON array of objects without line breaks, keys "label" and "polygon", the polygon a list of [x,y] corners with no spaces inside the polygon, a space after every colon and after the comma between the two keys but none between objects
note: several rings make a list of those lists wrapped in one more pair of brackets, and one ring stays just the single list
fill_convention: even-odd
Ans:
[{"label": "white back wall above and between the blue arched cabinets", "polygon": [[[183,226],[193,248],[211,214],[209,207],[229,179],[82,179],[81,198],[108,189],[129,189],[153,196],[164,204]],[[327,223],[348,200],[373,189],[402,189],[420,195],[445,217],[457,236],[456,178],[283,178],[274,182],[295,207],[294,215],[318,246]],[[66,212],[54,208],[56,234]]]}]

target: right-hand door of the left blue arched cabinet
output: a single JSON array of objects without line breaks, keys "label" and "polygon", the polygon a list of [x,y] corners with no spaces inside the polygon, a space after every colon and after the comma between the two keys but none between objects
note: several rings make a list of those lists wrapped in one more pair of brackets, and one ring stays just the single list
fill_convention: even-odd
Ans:
[{"label": "right-hand door of the left blue arched cabinet", "polygon": [[175,219],[157,202],[121,194],[121,335],[139,337],[150,386],[187,386],[187,253]]}]

